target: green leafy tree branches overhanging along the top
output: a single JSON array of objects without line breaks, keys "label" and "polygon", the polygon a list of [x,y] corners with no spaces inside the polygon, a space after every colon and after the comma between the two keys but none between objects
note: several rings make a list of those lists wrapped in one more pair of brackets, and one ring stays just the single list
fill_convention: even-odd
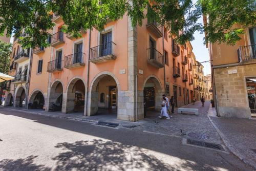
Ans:
[{"label": "green leafy tree branches overhanging along the top", "polygon": [[[254,0],[0,0],[0,33],[19,37],[23,47],[48,46],[49,30],[54,23],[51,12],[62,16],[63,31],[74,37],[80,30],[102,30],[108,19],[128,15],[133,27],[142,25],[145,18],[164,25],[169,36],[180,44],[191,41],[196,31],[205,31],[204,43],[226,42],[233,45],[244,33],[243,27],[254,25]],[[252,8],[253,6],[253,8]],[[208,16],[202,25],[198,19]],[[240,24],[242,28],[232,28]],[[26,36],[22,36],[25,30]]]}]

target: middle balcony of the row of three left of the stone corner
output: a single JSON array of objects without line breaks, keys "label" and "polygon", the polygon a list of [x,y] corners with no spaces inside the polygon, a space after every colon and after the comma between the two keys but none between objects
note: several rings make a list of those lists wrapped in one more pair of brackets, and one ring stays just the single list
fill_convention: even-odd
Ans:
[{"label": "middle balcony of the row of three left of the stone corner", "polygon": [[65,57],[64,67],[67,69],[79,68],[85,66],[84,56],[82,52],[74,53]]}]

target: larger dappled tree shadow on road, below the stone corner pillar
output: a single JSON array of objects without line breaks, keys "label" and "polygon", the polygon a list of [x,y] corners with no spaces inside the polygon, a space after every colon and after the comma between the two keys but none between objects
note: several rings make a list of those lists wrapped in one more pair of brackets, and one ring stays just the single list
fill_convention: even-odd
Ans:
[{"label": "larger dappled tree shadow on road, below the stone corner pillar", "polygon": [[119,142],[92,140],[58,143],[65,152],[54,157],[55,170],[215,170],[216,167],[198,165],[192,161],[166,164],[146,149]]}]

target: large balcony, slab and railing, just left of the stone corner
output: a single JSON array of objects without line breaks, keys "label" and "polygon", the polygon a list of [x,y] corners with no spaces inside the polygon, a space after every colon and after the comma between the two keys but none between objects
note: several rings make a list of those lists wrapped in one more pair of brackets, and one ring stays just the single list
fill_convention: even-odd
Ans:
[{"label": "large balcony, slab and railing, just left of the stone corner", "polygon": [[116,44],[112,41],[90,49],[90,62],[101,63],[116,59]]}]

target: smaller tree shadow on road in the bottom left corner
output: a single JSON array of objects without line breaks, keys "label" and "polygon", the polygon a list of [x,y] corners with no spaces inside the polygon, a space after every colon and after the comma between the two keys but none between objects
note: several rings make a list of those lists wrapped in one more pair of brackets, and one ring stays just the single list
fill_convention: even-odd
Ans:
[{"label": "smaller tree shadow on road in the bottom left corner", "polygon": [[34,163],[34,159],[37,156],[29,156],[25,159],[3,159],[0,161],[1,171],[20,171],[20,170],[33,170],[33,171],[50,171],[51,168],[45,167],[44,165],[37,165]]}]

